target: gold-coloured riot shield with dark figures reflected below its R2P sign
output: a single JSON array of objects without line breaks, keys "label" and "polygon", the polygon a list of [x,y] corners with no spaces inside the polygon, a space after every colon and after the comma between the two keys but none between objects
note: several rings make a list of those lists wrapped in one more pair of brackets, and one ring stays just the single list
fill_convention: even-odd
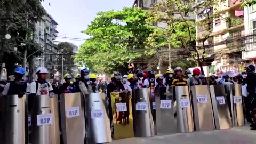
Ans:
[{"label": "gold-coloured riot shield with dark figures reflected below its R2P sign", "polygon": [[134,137],[131,93],[111,92],[114,139]]}]

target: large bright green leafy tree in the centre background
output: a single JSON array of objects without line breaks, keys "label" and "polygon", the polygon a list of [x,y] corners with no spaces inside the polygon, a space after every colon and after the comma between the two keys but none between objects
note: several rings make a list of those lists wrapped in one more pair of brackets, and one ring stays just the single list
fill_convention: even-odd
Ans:
[{"label": "large bright green leafy tree in the centre background", "polygon": [[79,49],[75,61],[98,73],[112,73],[130,60],[143,57],[146,38],[153,28],[146,23],[147,11],[124,7],[99,12],[84,34],[91,36]]}]

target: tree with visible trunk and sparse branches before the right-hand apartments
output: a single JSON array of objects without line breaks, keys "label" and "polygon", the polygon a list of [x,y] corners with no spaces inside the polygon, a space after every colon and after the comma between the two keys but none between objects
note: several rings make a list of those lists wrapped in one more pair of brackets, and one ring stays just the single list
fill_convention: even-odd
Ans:
[{"label": "tree with visible trunk and sparse branches before the right-hand apartments", "polygon": [[[219,2],[219,1],[218,1]],[[196,54],[197,62],[203,71],[203,60],[205,53],[204,42],[212,34],[211,23],[216,15],[213,15],[213,5],[216,5],[215,0],[206,0],[202,3],[197,3],[191,0],[166,0],[158,3],[150,10],[149,23],[163,23],[164,26],[158,26],[154,30],[154,33],[148,38],[149,47],[158,48],[159,45],[155,43],[159,42],[162,38],[160,46],[169,45],[172,48],[184,48],[191,53]],[[196,7],[196,9],[194,9]],[[204,20],[196,23],[194,19],[191,19],[192,14],[198,13],[199,10],[205,11],[202,16]],[[201,38],[203,42],[203,53],[200,53],[198,47],[196,47],[196,26],[204,27],[206,29],[205,34]],[[170,52],[170,51],[169,51]],[[177,53],[171,53],[171,58],[176,58]],[[179,58],[179,57],[178,57]]]}]

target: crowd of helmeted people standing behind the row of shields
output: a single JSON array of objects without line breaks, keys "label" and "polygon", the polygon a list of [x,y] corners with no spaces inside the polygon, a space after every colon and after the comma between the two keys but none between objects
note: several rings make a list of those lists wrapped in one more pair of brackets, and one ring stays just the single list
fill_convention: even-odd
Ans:
[{"label": "crowd of helmeted people standing behind the row of shields", "polygon": [[[107,94],[109,100],[109,115],[110,123],[112,121],[111,117],[111,92],[123,91],[124,93],[131,92],[134,89],[140,88],[150,88],[154,90],[155,87],[165,87],[165,86],[193,86],[193,85],[232,85],[241,84],[245,89],[243,90],[243,98],[245,103],[246,118],[248,122],[251,122],[251,130],[256,130],[256,74],[254,65],[249,65],[246,67],[246,71],[242,74],[230,77],[229,75],[223,75],[222,77],[217,77],[215,75],[210,76],[210,81],[208,82],[206,77],[201,74],[201,70],[195,68],[193,71],[183,70],[181,67],[176,67],[174,69],[167,69],[166,73],[155,74],[155,71],[149,70],[147,72],[141,69],[129,71],[129,75],[122,76],[121,73],[115,72],[111,76],[111,82],[109,84],[97,84],[97,75],[90,74],[88,69],[81,70],[80,74],[75,75],[75,82],[71,82],[72,76],[70,74],[65,74],[63,76],[65,83],[60,84],[50,84],[46,81],[47,69],[44,67],[39,67],[36,69],[36,75],[38,77],[37,81],[28,84],[22,77],[25,75],[25,69],[18,67],[15,69],[15,79],[14,81],[2,84],[0,86],[3,89],[2,95],[14,95],[17,94],[19,97],[28,94],[29,109],[32,107],[33,99],[36,95],[49,94],[53,97],[55,94],[62,93],[74,93],[81,92],[84,96],[90,93],[104,92]],[[103,87],[99,89],[99,87]],[[154,93],[154,91],[151,91]]]}]

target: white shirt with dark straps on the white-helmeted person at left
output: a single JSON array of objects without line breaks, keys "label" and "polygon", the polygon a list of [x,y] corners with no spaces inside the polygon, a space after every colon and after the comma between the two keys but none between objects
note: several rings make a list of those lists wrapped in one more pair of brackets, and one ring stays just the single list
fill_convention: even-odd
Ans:
[{"label": "white shirt with dark straps on the white-helmeted person at left", "polygon": [[[36,92],[36,82],[32,82],[30,84],[30,93],[31,94],[36,94],[36,95],[49,94],[49,91],[53,91],[53,89],[52,89],[52,85],[50,83],[48,83],[48,84],[49,84],[49,87],[48,86],[41,87],[41,84],[38,83],[38,89],[37,89],[37,92]],[[46,92],[46,93],[44,93],[44,92]]]}]

